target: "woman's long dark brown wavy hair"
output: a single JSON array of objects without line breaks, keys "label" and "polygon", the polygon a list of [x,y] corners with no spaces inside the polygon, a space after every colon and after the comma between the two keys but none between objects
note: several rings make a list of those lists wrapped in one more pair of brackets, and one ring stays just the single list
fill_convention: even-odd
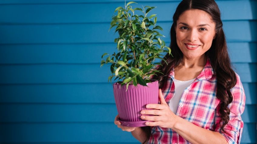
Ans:
[{"label": "woman's long dark brown wavy hair", "polygon": [[[224,126],[229,122],[230,110],[228,105],[232,102],[233,97],[230,92],[230,89],[233,88],[236,84],[236,74],[235,68],[232,66],[227,50],[227,43],[225,40],[225,34],[222,28],[222,21],[220,17],[219,7],[214,0],[182,0],[179,3],[174,15],[173,15],[173,24],[170,29],[170,48],[172,50],[172,56],[166,54],[164,59],[167,61],[168,65],[162,60],[162,66],[157,70],[160,70],[161,73],[156,73],[152,79],[157,79],[159,81],[159,88],[165,87],[165,81],[167,80],[168,75],[170,74],[172,68],[175,68],[182,62],[183,53],[179,49],[176,41],[176,32],[175,26],[177,25],[177,20],[179,16],[190,9],[199,9],[207,12],[212,20],[215,22],[215,38],[212,41],[211,48],[205,52],[205,56],[209,57],[212,68],[216,74],[217,78],[217,98],[220,100],[220,109],[219,114],[221,116],[221,130],[225,132]],[[142,127],[147,135],[147,139],[150,138],[151,131],[150,126]],[[143,142],[143,143],[145,143]]]}]

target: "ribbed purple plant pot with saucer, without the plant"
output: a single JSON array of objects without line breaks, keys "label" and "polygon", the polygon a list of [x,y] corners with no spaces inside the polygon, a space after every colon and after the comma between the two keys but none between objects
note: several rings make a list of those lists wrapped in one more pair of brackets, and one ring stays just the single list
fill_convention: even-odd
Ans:
[{"label": "ribbed purple plant pot with saucer, without the plant", "polygon": [[[129,85],[126,91],[126,85],[121,86],[119,83],[113,84],[113,92],[116,107],[119,114],[119,121],[122,126],[142,127],[146,126],[140,117],[141,110],[151,110],[145,108],[146,104],[158,104],[159,84],[158,80],[150,80],[147,86]],[[152,116],[152,115],[146,115]]]}]

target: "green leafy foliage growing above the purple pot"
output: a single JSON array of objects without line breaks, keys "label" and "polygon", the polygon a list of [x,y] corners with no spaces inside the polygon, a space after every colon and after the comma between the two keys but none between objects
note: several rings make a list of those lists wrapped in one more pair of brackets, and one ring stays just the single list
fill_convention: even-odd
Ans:
[{"label": "green leafy foliage growing above the purple pot", "polygon": [[[147,15],[156,7],[132,9],[132,3],[135,2],[125,3],[125,8],[115,9],[117,15],[112,17],[110,29],[116,27],[115,33],[118,32],[119,36],[114,40],[118,53],[104,53],[102,59],[107,57],[101,61],[101,67],[112,63],[112,75],[109,76],[108,82],[112,82],[112,78],[116,77],[115,80],[118,78],[118,83],[122,86],[126,84],[127,88],[129,84],[136,86],[138,83],[147,86],[146,83],[151,82],[150,77],[160,72],[155,67],[161,63],[155,60],[164,60],[164,55],[161,54],[163,52],[171,54],[171,49],[165,46],[165,42],[160,38],[164,36],[159,33],[162,27],[156,25],[156,14]],[[140,11],[142,15],[135,14],[135,11]]]}]

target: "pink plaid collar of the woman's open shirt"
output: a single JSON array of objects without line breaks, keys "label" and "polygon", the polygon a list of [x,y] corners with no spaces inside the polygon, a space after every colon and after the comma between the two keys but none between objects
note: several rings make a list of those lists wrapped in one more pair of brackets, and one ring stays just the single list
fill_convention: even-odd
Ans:
[{"label": "pink plaid collar of the woman's open shirt", "polygon": [[[202,70],[202,72],[195,78],[197,81],[198,80],[208,80],[210,78],[212,78],[212,75],[215,75],[215,72],[211,66],[211,61],[209,59],[209,57],[207,57],[207,61],[206,64]],[[171,77],[174,80],[174,68],[172,68],[169,77]]]}]

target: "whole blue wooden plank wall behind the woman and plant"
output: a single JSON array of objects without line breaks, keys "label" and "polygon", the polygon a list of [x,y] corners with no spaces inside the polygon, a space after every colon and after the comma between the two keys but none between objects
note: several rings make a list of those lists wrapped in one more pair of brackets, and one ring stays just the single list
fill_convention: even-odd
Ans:
[{"label": "whole blue wooden plank wall behind the woman and plant", "polygon": [[[169,45],[180,1],[157,6]],[[241,142],[256,143],[257,1],[219,0],[235,71],[246,94]],[[115,50],[111,17],[123,0],[0,0],[0,143],[138,144],[117,128],[103,53]],[[136,5],[132,5],[134,8]]]}]

